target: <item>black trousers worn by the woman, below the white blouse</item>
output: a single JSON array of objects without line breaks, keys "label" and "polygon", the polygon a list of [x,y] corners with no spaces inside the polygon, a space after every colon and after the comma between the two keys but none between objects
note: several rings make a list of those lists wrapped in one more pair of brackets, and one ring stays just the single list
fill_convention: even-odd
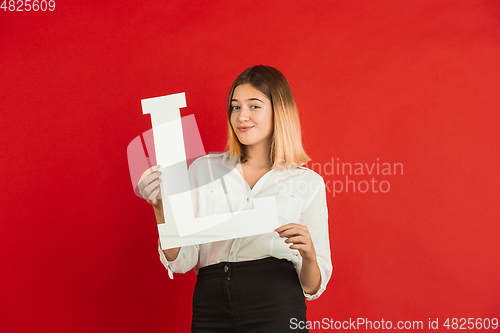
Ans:
[{"label": "black trousers worn by the woman, below the white blouse", "polygon": [[[302,287],[293,264],[274,257],[200,269],[193,294],[193,333],[308,332]],[[292,325],[295,327],[295,325]]]}]

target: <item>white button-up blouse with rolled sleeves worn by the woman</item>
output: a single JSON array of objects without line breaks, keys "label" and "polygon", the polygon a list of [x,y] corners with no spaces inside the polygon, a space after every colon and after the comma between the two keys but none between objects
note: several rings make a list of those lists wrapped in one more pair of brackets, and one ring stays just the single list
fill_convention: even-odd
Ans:
[{"label": "white button-up blouse with rolled sleeves worn by the woman", "polygon": [[[314,295],[304,292],[307,300],[318,298],[326,289],[332,275],[330,240],[328,235],[328,208],[323,178],[304,167],[272,169],[262,176],[252,189],[235,168],[237,157],[229,152],[208,154],[196,159],[189,167],[191,188],[197,189],[194,200],[195,216],[221,214],[251,209],[253,199],[275,196],[280,225],[299,223],[307,226],[321,272],[321,286]],[[276,257],[290,260],[299,276],[302,257],[298,250],[289,248],[286,238],[277,232],[181,247],[177,258],[168,261],[158,248],[160,260],[172,273],[186,273],[192,268],[196,274],[201,267],[222,261],[239,262]]]}]

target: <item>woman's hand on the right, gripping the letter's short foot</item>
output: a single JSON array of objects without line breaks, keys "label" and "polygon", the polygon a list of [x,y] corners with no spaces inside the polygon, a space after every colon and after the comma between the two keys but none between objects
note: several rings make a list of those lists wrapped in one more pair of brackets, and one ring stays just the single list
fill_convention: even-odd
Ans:
[{"label": "woman's hand on the right, gripping the letter's short foot", "polygon": [[299,250],[303,259],[316,261],[316,251],[312,243],[311,235],[305,225],[288,223],[275,229],[280,237],[286,237],[285,243],[293,243],[290,249]]}]

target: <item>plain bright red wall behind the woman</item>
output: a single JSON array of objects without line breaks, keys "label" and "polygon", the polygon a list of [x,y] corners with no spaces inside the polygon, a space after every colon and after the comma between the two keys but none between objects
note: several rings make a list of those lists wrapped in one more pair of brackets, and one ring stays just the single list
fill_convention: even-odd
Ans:
[{"label": "plain bright red wall behind the woman", "polygon": [[254,64],[289,80],[312,162],[404,165],[329,193],[309,320],[500,317],[500,2],[56,0],[0,11],[0,47],[1,332],[189,330],[195,274],[168,278],[126,147],[141,99],[184,91],[221,151]]}]

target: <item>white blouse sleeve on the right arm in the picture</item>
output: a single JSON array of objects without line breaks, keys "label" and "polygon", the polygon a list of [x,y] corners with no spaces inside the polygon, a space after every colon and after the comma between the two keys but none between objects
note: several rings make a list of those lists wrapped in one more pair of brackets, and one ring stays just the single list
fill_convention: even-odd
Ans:
[{"label": "white blouse sleeve on the right arm in the picture", "polygon": [[[314,249],[316,251],[316,260],[321,273],[321,285],[319,290],[313,295],[304,292],[304,297],[308,301],[315,300],[326,290],[326,286],[328,281],[330,281],[330,277],[333,272],[330,253],[330,236],[328,233],[328,206],[326,202],[325,183],[321,176],[317,176],[318,177],[315,179],[315,182],[318,185],[318,190],[309,206],[307,206],[302,213],[299,222],[300,224],[307,226],[309,234],[311,235]],[[296,268],[300,278],[302,260]]]}]

